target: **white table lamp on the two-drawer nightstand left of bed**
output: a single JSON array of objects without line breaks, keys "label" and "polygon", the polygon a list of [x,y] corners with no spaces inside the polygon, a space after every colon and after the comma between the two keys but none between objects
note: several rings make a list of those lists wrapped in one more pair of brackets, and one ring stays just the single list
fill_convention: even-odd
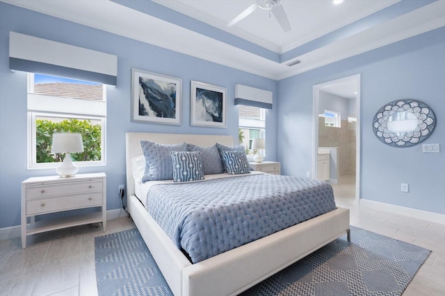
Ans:
[{"label": "white table lamp on the two-drawer nightstand left of bed", "polygon": [[82,135],[75,132],[55,132],[51,153],[65,153],[62,164],[56,168],[60,177],[74,177],[79,168],[73,164],[70,153],[83,152]]}]

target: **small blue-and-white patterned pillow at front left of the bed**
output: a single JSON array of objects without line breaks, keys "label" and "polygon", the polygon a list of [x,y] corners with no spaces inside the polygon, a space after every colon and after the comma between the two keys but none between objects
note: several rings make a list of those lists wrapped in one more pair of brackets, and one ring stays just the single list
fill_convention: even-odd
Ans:
[{"label": "small blue-and-white patterned pillow at front left of the bed", "polygon": [[204,180],[199,151],[170,152],[173,164],[173,182]]}]

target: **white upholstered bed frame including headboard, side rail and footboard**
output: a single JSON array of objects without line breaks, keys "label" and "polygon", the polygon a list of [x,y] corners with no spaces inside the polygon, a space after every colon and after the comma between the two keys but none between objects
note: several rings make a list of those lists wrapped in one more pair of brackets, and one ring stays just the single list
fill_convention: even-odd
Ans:
[{"label": "white upholstered bed frame including headboard, side rail and footboard", "polygon": [[234,145],[229,136],[127,132],[127,197],[131,218],[175,296],[238,295],[334,239],[348,234],[349,210],[337,208],[234,250],[192,264],[134,195],[131,159],[142,155],[140,140],[156,143]]}]

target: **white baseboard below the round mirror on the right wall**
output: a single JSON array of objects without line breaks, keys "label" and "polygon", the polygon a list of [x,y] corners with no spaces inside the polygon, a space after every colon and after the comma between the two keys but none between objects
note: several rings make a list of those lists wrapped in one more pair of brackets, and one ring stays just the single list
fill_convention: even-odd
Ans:
[{"label": "white baseboard below the round mirror on the right wall", "polygon": [[360,199],[359,203],[363,207],[371,209],[378,209],[379,211],[389,211],[394,214],[403,216],[410,216],[412,218],[427,220],[434,223],[445,225],[445,215],[432,213],[430,211],[422,211],[420,209],[411,209],[408,207],[401,207],[394,204],[385,204],[384,202],[375,202],[373,200]]}]

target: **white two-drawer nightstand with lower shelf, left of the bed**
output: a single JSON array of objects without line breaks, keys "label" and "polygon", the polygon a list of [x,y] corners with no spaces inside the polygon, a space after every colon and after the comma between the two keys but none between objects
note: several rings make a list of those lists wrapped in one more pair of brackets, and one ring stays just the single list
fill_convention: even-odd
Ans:
[{"label": "white two-drawer nightstand with lower shelf, left of the bed", "polygon": [[[35,216],[101,207],[84,215],[35,221]],[[31,217],[28,225],[26,218]],[[22,182],[22,248],[26,236],[83,224],[102,222],[106,231],[106,175],[78,174],[74,177],[31,177]]]}]

